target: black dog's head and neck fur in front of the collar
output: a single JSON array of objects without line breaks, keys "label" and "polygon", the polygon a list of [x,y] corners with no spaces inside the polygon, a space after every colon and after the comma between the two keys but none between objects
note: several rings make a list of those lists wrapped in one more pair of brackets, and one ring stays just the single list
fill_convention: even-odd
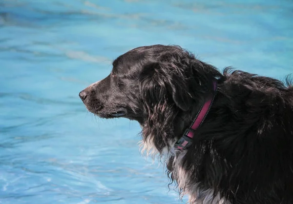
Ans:
[{"label": "black dog's head and neck fur in front of the collar", "polygon": [[[138,121],[161,152],[194,107],[212,93],[220,73],[179,46],[132,49],[113,61],[111,73],[80,92],[87,109],[102,118]],[[151,136],[150,136],[151,135]]]}]

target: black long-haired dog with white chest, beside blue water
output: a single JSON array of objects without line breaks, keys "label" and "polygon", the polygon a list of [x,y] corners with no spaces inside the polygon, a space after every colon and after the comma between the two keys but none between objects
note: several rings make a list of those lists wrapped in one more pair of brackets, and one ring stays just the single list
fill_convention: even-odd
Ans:
[{"label": "black long-haired dog with white chest, beside blue water", "polygon": [[132,49],[80,92],[101,118],[142,126],[190,204],[293,204],[293,82],[220,72],[180,46]]}]

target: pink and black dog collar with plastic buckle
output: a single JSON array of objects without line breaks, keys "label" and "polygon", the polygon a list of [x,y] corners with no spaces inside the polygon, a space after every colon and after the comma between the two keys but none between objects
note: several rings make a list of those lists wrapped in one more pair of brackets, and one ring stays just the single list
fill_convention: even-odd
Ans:
[{"label": "pink and black dog collar with plastic buckle", "polygon": [[217,82],[213,82],[213,86],[214,94],[212,98],[201,106],[191,125],[184,131],[183,136],[175,143],[175,149],[186,150],[192,144],[192,138],[194,136],[195,130],[204,122],[209,113],[210,106],[215,98]]}]

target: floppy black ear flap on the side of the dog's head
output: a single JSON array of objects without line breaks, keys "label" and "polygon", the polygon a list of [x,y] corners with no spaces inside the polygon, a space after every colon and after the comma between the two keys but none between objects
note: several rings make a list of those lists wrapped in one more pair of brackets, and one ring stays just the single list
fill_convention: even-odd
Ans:
[{"label": "floppy black ear flap on the side of the dog's head", "polygon": [[188,111],[192,97],[184,70],[174,63],[155,62],[148,64],[140,76],[140,91],[144,102],[152,105],[173,102],[183,111]]}]

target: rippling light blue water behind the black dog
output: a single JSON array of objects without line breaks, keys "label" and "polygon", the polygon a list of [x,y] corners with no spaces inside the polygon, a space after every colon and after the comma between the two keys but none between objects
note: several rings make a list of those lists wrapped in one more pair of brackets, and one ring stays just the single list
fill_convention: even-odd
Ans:
[{"label": "rippling light blue water behind the black dog", "polygon": [[292,0],[0,0],[0,204],[178,204],[140,127],[78,97],[127,50],[178,44],[222,69],[293,72]]}]

